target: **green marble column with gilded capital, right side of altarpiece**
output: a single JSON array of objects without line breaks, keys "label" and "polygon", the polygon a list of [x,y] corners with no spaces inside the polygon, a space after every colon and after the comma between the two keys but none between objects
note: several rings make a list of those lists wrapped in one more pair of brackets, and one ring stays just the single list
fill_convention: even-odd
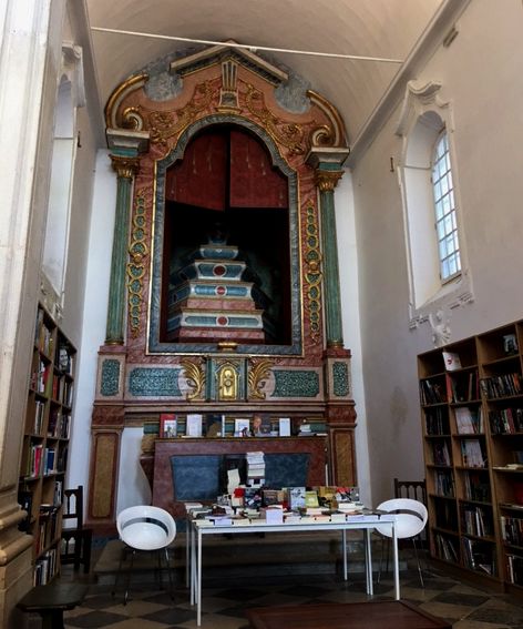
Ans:
[{"label": "green marble column with gilded capital, right side of altarpiece", "polygon": [[316,185],[319,189],[321,212],[327,347],[343,346],[334,192],[342,174],[343,171],[340,170],[322,170],[319,168],[316,171]]}]

